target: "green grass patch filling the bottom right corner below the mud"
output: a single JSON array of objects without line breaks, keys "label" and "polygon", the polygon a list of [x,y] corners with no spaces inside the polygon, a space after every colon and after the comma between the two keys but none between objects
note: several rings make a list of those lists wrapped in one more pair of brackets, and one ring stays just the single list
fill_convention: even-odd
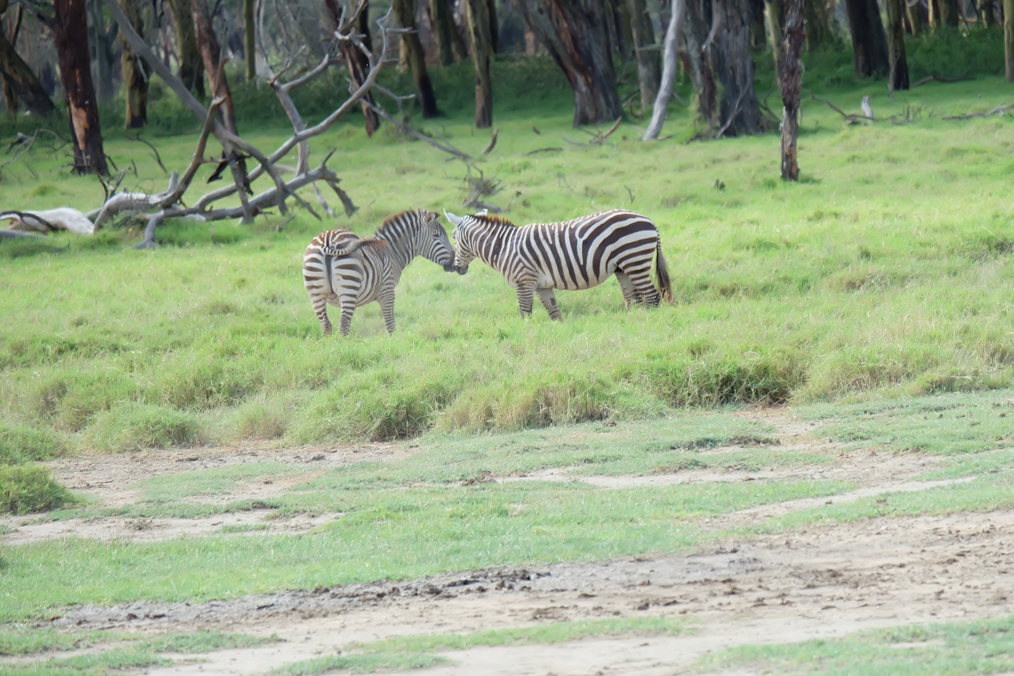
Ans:
[{"label": "green grass patch filling the bottom right corner below the mud", "polygon": [[706,669],[758,673],[967,676],[1014,669],[1014,617],[873,629],[844,639],[729,648]]}]

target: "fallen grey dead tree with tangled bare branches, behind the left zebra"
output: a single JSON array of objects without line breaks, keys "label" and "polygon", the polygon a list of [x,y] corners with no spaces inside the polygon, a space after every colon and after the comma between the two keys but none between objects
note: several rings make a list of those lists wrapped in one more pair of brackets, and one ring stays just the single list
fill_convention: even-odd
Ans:
[{"label": "fallen grey dead tree with tangled bare branches, behind the left zebra", "polygon": [[[345,206],[347,214],[351,214],[355,211],[355,205],[352,204],[348,195],[346,195],[342,189],[339,187],[338,176],[327,166],[327,162],[328,159],[330,159],[331,154],[324,157],[320,164],[313,168],[309,168],[309,146],[307,141],[310,138],[328,131],[340,118],[342,118],[342,116],[348,114],[349,110],[358,105],[362,97],[376,85],[377,75],[380,73],[383,66],[388,62],[390,54],[390,41],[392,39],[397,40],[401,33],[404,32],[403,30],[388,28],[381,23],[381,48],[379,54],[377,56],[373,56],[369,49],[363,44],[360,33],[356,32],[355,25],[358,12],[349,11],[342,16],[338,30],[336,30],[335,37],[339,42],[351,41],[356,46],[356,49],[369,54],[369,71],[366,74],[366,79],[363,83],[358,87],[351,87],[350,96],[316,125],[306,127],[303,124],[298,110],[292,102],[289,92],[294,87],[305,84],[314,77],[320,75],[320,73],[324,72],[331,62],[331,55],[325,55],[320,64],[292,81],[282,83],[278,81],[277,76],[272,77],[272,88],[278,95],[283,108],[285,108],[286,112],[289,114],[290,121],[292,121],[293,134],[277,149],[275,149],[274,152],[268,155],[261,152],[261,150],[257,147],[244,141],[237,134],[227,129],[224,124],[219,122],[217,112],[218,109],[225,103],[224,96],[216,96],[214,100],[212,100],[211,105],[206,109],[190,92],[187,85],[185,85],[179,78],[172,75],[165,64],[151,51],[137,31],[133,29],[127,21],[120,5],[117,3],[117,0],[104,1],[114,18],[118,23],[120,23],[122,30],[124,31],[124,36],[130,43],[134,51],[137,52],[142,59],[144,59],[145,63],[153,72],[157,73],[158,76],[165,81],[166,85],[172,89],[173,93],[179,97],[180,101],[201,121],[203,125],[201,135],[198,139],[197,148],[194,152],[193,160],[178,180],[174,180],[175,177],[170,180],[169,190],[158,196],[132,194],[128,198],[121,200],[121,203],[127,204],[128,206],[141,205],[141,208],[146,212],[147,226],[145,227],[144,241],[141,242],[138,247],[143,248],[147,246],[154,246],[155,230],[168,218],[190,217],[197,218],[199,220],[214,221],[242,217],[246,220],[271,207],[276,207],[280,213],[285,214],[288,212],[288,208],[285,204],[288,198],[292,198],[311,214],[316,215],[313,208],[306,203],[305,200],[299,197],[297,191],[300,187],[313,185],[319,181],[323,181],[335,191]],[[362,3],[360,3],[359,7],[361,8],[361,6]],[[219,71],[220,70],[221,64],[219,65]],[[220,73],[216,75],[219,74]],[[251,159],[258,162],[258,166],[256,166],[248,173],[233,170],[232,184],[219,187],[218,190],[199,198],[191,206],[185,206],[183,203],[184,195],[193,182],[198,168],[200,168],[202,164],[208,162],[208,160],[205,159],[204,154],[208,138],[212,135],[214,135],[214,137],[222,145],[224,158],[229,163],[230,168],[234,169],[234,166],[238,161],[237,157],[240,156],[240,154],[248,155]],[[299,167],[297,167],[295,176],[290,178],[288,181],[285,181],[282,179],[276,165],[286,155],[288,155],[293,148],[297,148],[299,152]],[[220,162],[221,160],[216,161]],[[247,197],[246,187],[248,184],[265,174],[271,177],[274,185],[262,193]],[[239,206],[215,206],[217,202],[233,195],[239,196]]]}]

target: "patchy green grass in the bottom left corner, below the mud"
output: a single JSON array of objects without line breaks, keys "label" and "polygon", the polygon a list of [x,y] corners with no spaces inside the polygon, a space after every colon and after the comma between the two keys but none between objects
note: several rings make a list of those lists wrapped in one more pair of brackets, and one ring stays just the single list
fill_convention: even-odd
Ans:
[{"label": "patchy green grass in the bottom left corner, below the mud", "polygon": [[68,658],[50,658],[31,662],[10,662],[0,665],[3,676],[101,676],[150,666],[166,666],[172,660],[163,653],[201,654],[226,648],[261,646],[277,636],[263,637],[242,633],[197,631],[173,633],[137,641],[136,636],[116,632],[88,631],[59,633],[46,629],[0,630],[0,655],[26,655],[85,648],[95,644],[116,642],[116,646],[100,652]]}]

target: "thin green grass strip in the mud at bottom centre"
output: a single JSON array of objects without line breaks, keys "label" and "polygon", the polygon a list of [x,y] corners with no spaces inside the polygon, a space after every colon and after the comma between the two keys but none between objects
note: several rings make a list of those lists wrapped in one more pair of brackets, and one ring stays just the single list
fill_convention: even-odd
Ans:
[{"label": "thin green grass strip in the mud at bottom centre", "polygon": [[468,633],[436,633],[392,636],[360,644],[357,653],[334,655],[289,664],[272,671],[273,676],[312,676],[325,671],[348,669],[372,673],[381,669],[423,669],[449,662],[436,652],[459,651],[476,646],[517,644],[552,645],[590,637],[679,634],[686,631],[684,619],[668,617],[609,617],[566,620],[536,626],[517,626]]}]

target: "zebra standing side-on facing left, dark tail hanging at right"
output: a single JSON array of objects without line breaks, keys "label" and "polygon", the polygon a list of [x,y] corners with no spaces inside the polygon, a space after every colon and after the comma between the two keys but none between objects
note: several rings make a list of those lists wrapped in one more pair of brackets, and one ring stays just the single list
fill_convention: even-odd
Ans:
[{"label": "zebra standing side-on facing left, dark tail hanging at right", "polygon": [[[566,223],[533,223],[518,227],[499,216],[454,216],[454,266],[460,275],[481,258],[500,271],[517,290],[521,316],[531,314],[538,294],[550,317],[561,319],[554,289],[590,289],[615,274],[629,308],[634,303],[656,307],[672,300],[669,272],[655,224],[645,216],[614,209]],[[658,286],[649,272],[655,257]]]}]

